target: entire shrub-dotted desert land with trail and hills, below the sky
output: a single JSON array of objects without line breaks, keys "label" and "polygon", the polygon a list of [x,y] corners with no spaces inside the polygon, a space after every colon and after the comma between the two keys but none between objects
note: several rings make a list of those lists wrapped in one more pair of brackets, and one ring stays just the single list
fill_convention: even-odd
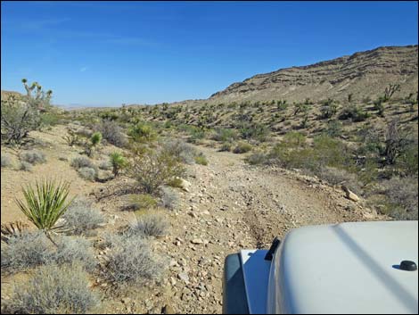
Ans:
[{"label": "entire shrub-dotted desert land with trail and hills, below the sky", "polygon": [[[70,111],[25,79],[25,98],[2,91],[2,313],[220,313],[230,253],[417,220],[417,75],[407,46],[175,104]],[[22,211],[54,178],[66,211]]]}]

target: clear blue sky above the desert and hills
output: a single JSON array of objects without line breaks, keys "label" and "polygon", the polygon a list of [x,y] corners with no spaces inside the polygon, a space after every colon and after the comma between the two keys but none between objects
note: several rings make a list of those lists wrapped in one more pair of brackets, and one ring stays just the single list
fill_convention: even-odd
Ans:
[{"label": "clear blue sky above the desert and hills", "polygon": [[207,98],[233,82],[417,44],[416,2],[4,2],[1,88],[53,104]]}]

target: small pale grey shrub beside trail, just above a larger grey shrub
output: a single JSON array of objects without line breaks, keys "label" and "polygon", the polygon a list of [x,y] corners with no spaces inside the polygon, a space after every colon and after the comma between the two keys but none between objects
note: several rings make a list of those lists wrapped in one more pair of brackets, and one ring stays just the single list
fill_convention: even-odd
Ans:
[{"label": "small pale grey shrub beside trail, just above a larger grey shrub", "polygon": [[168,222],[160,214],[144,214],[127,228],[126,233],[128,236],[166,236]]}]

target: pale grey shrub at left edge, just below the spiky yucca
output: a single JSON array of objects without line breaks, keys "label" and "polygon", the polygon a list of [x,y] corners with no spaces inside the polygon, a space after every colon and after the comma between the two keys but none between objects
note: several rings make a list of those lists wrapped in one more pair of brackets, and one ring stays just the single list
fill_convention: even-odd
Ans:
[{"label": "pale grey shrub at left edge, just below the spiky yucca", "polygon": [[2,272],[13,273],[49,263],[53,244],[42,231],[23,231],[1,247]]}]

